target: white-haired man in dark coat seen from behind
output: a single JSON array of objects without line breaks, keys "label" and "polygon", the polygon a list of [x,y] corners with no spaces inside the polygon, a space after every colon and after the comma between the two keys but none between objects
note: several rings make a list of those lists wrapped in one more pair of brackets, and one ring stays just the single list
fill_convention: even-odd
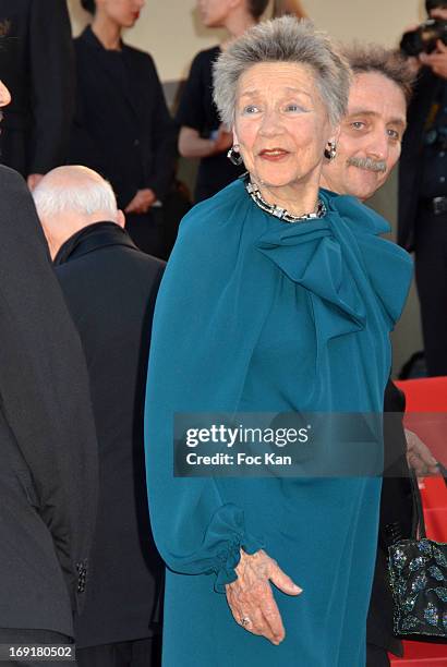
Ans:
[{"label": "white-haired man in dark coat seen from behind", "polygon": [[110,185],[89,169],[56,169],[34,196],[87,359],[99,445],[92,585],[75,627],[78,666],[155,667],[164,566],[150,537],[143,404],[164,263],[137,250]]}]

